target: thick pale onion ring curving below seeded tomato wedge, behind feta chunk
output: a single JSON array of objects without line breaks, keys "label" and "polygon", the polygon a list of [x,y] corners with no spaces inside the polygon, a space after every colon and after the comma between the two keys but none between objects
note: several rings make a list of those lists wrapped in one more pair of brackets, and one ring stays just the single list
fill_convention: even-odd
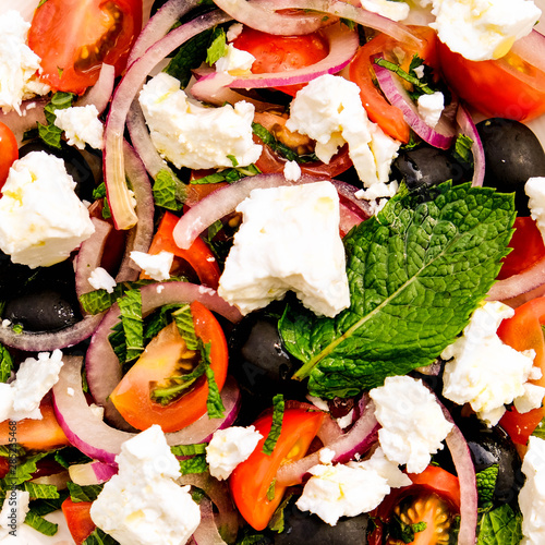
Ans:
[{"label": "thick pale onion ring curving below seeded tomato wedge, behind feta chunk", "polygon": [[[121,445],[136,433],[117,429],[93,412],[82,388],[82,358],[66,356],[63,362],[59,380],[53,386],[53,408],[59,425],[69,441],[84,455],[104,463],[116,464]],[[203,443],[219,427],[230,425],[235,417],[232,413],[240,405],[240,390],[230,377],[221,390],[221,399],[226,419],[208,419],[205,414],[179,432],[165,434],[167,443],[170,446]]]}]

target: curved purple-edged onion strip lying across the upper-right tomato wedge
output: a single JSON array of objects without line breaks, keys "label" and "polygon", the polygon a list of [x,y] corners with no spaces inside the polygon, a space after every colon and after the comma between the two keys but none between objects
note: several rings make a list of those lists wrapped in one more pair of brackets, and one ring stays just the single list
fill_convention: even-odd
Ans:
[{"label": "curved purple-edged onion strip lying across the upper-right tomato wedge", "polygon": [[[384,57],[379,55],[376,56],[376,58],[382,59]],[[443,112],[437,125],[434,129],[431,128],[422,119],[422,116],[407,94],[400,78],[390,70],[379,64],[375,64],[374,69],[378,85],[380,85],[380,90],[392,106],[396,106],[403,112],[404,120],[411,129],[429,145],[441,149],[448,149],[455,140],[456,129],[451,120],[448,119],[446,112]]]}]

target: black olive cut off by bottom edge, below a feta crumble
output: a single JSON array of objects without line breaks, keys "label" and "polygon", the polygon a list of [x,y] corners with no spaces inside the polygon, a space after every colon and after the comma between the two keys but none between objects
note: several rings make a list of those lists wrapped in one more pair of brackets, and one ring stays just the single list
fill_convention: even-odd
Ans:
[{"label": "black olive cut off by bottom edge, below a feta crumble", "polygon": [[365,545],[368,516],[341,518],[335,526],[316,514],[299,510],[294,505],[284,509],[284,530],[275,534],[275,545]]}]

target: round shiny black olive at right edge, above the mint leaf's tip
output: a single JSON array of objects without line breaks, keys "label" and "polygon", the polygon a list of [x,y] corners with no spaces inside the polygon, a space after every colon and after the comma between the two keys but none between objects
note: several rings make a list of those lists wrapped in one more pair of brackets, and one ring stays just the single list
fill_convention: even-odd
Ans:
[{"label": "round shiny black olive at right edge, above the mint leaf's tip", "polygon": [[545,177],[545,153],[535,134],[512,119],[493,118],[476,125],[485,155],[484,185],[502,193],[514,192],[520,216],[529,216],[524,184]]}]

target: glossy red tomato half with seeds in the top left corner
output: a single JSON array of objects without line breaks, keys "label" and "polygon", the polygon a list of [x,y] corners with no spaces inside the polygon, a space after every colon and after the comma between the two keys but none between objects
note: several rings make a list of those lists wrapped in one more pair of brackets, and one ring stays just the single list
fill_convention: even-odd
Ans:
[{"label": "glossy red tomato half with seeds in the top left corner", "polygon": [[34,12],[28,46],[40,57],[40,80],[82,94],[102,62],[119,75],[142,29],[142,0],[48,0]]}]

